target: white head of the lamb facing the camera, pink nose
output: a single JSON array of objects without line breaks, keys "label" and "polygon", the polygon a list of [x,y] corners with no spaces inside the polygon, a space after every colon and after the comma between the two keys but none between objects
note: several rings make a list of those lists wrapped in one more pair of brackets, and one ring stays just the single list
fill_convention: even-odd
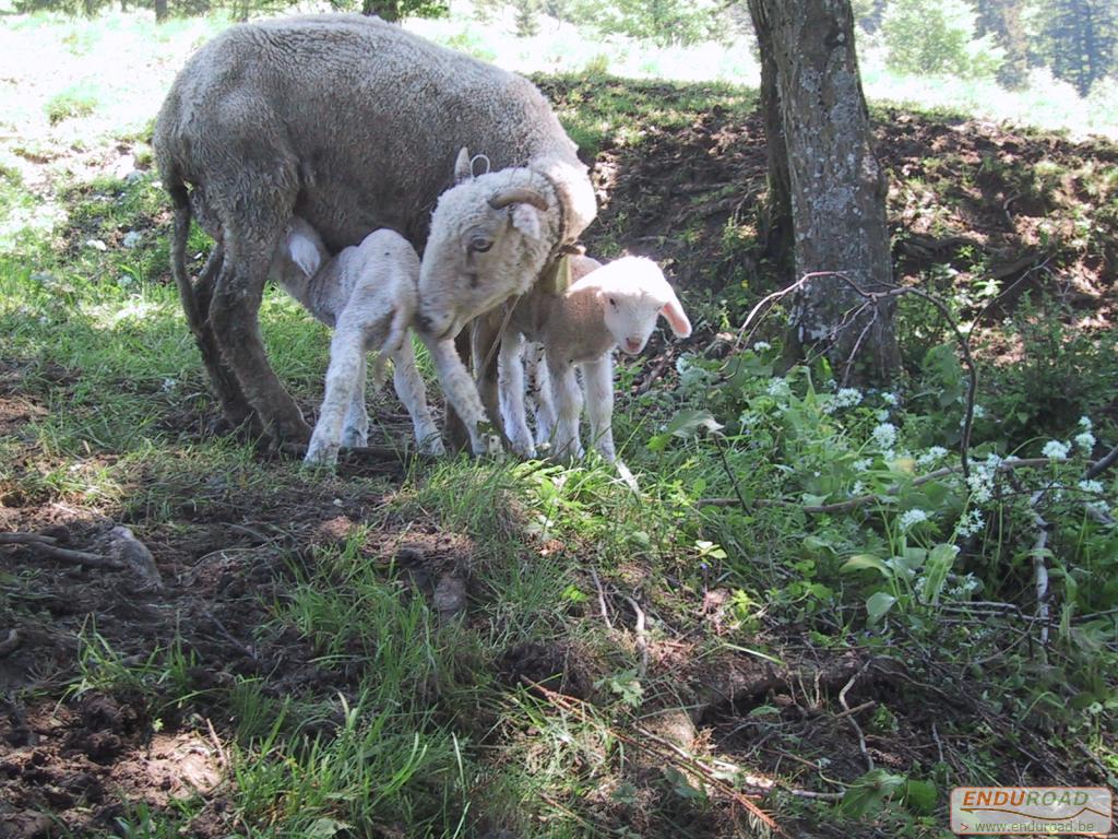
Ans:
[{"label": "white head of the lamb facing the camera, pink nose", "polygon": [[691,334],[691,321],[680,299],[652,260],[624,256],[588,275],[598,289],[606,329],[623,352],[635,356],[648,342],[661,314],[680,338]]}]

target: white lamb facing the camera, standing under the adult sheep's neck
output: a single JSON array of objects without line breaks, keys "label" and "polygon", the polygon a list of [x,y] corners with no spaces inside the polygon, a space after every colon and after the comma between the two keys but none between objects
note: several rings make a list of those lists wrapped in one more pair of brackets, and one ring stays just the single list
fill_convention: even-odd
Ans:
[{"label": "white lamb facing the camera, standing under the adult sheep's neck", "polygon": [[[612,463],[617,456],[612,425],[613,349],[620,347],[631,356],[641,352],[660,315],[680,338],[691,334],[691,322],[651,260],[626,256],[601,265],[588,256],[572,256],[570,265],[572,282],[565,293],[532,291],[520,299],[509,318],[499,359],[501,412],[517,454],[536,456],[536,446],[550,440],[558,460],[580,458],[578,366],[594,444]],[[521,357],[525,339],[540,345],[528,351],[529,367],[536,368],[531,392],[537,400],[534,441],[524,411]]]}]

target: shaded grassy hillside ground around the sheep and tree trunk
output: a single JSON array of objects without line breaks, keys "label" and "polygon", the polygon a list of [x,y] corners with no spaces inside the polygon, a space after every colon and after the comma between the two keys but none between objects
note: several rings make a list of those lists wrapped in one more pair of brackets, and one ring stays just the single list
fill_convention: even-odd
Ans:
[{"label": "shaded grassy hillside ground around the sheep and tree trunk", "polygon": [[[41,47],[60,84],[135,44],[82,26]],[[639,492],[595,460],[306,471],[218,431],[170,284],[145,123],[220,22],[177,26],[127,110],[66,81],[3,115],[0,534],[55,541],[0,544],[0,833],[944,837],[958,784],[1115,785],[1118,148],[874,112],[898,277],[979,368],[964,478],[930,307],[891,393],[774,378],[779,310],[740,331],[779,282],[754,91],[539,77],[590,253],[656,257],[697,326],[620,365]],[[325,330],[277,292],[262,321],[313,415]]]}]

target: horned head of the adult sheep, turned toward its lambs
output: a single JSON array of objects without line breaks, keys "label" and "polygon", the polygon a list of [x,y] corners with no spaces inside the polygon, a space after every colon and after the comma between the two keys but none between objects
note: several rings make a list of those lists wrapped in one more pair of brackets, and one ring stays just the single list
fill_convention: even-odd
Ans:
[{"label": "horned head of the adult sheep, turned toward its lambs", "polygon": [[528,291],[559,237],[559,198],[527,168],[474,177],[465,149],[438,199],[419,270],[419,328],[437,338]]}]

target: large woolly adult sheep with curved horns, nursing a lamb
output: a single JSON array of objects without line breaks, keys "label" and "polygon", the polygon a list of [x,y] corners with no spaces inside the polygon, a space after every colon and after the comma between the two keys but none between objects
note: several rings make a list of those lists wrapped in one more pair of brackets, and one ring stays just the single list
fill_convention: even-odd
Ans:
[{"label": "large woolly adult sheep with curved horns, nursing a lamb", "polygon": [[[174,204],[172,271],[222,409],[277,444],[310,436],[257,321],[293,215],[332,253],[377,228],[402,234],[423,253],[417,326],[445,338],[531,287],[596,213],[575,144],[530,82],[375,18],[230,27],[179,73],[152,142]],[[492,171],[472,177],[465,149]],[[217,242],[193,284],[192,215]]]}]

